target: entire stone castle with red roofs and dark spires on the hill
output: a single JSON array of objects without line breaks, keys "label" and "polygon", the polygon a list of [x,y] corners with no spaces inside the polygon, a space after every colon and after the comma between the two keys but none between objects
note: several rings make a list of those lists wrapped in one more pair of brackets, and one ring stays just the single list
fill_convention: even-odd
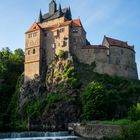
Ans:
[{"label": "entire stone castle with red roofs and dark spires on the hill", "polygon": [[95,72],[138,79],[134,46],[127,42],[104,36],[102,45],[91,45],[80,19],[72,19],[69,8],[57,9],[55,0],[49,12],[42,15],[25,33],[25,81],[42,75],[45,64],[50,64],[60,50],[68,58],[76,56],[82,63],[95,62]]}]

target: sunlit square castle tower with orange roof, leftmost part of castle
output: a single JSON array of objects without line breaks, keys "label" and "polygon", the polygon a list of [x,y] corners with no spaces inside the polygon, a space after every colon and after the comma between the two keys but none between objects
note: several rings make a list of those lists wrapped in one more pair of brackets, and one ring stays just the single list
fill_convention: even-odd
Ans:
[{"label": "sunlit square castle tower with orange roof, leftmost part of castle", "polygon": [[37,23],[34,23],[25,33],[26,47],[24,81],[33,79],[35,75],[41,74],[41,34],[42,30]]}]

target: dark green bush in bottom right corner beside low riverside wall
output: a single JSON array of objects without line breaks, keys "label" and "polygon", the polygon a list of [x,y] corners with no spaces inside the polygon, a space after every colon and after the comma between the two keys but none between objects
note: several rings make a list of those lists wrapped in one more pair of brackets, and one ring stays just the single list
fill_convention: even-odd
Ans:
[{"label": "dark green bush in bottom right corner beside low riverside wall", "polygon": [[140,140],[140,121],[123,126],[122,137],[124,140]]}]

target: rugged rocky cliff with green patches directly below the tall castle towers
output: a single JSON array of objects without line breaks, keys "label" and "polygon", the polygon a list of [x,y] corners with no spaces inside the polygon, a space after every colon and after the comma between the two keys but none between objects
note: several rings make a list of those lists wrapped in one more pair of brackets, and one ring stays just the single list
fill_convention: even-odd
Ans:
[{"label": "rugged rocky cliff with green patches directly below the tall castle towers", "polygon": [[[61,129],[80,118],[80,82],[70,60],[49,65],[46,79],[35,77],[20,88],[22,120],[32,128]],[[27,118],[28,116],[28,118]]]}]

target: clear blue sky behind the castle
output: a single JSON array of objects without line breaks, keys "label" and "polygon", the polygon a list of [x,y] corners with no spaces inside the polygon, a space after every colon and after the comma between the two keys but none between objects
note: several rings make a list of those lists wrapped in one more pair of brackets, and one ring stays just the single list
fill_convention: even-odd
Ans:
[{"label": "clear blue sky behind the castle", "polygon": [[[48,12],[51,0],[0,0],[0,49],[25,48],[25,32],[38,20],[40,9]],[[91,44],[101,44],[104,35],[134,45],[140,77],[140,0],[56,0],[71,7],[80,18]]]}]

